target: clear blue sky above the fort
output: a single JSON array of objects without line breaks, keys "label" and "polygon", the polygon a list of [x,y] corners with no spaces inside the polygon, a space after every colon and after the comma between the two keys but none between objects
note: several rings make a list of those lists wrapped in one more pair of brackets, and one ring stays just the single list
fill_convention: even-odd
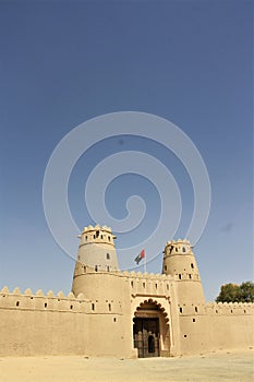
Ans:
[{"label": "clear blue sky above the fort", "polygon": [[[71,289],[74,262],[55,242],[44,215],[44,172],[73,128],[124,110],[172,121],[203,156],[213,198],[195,254],[206,298],[214,299],[223,283],[253,278],[252,25],[253,3],[244,0],[0,2],[0,287]],[[193,205],[184,168],[165,147],[134,136],[98,143],[77,162],[69,202],[78,226],[93,223],[84,205],[85,177],[123,146],[170,168],[183,199],[178,235],[184,235]],[[106,203],[122,218],[132,193],[147,202],[138,227],[145,237],[159,208],[147,180],[116,179]],[[137,237],[118,235],[117,247],[126,240]],[[160,264],[158,256],[147,270],[159,273]]]}]

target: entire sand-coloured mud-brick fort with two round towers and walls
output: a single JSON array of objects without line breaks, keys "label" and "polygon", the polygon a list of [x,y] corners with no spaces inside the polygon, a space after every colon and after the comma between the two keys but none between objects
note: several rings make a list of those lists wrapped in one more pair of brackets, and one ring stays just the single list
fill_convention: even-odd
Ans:
[{"label": "entire sand-coloured mud-brick fort with two round towers and walls", "polygon": [[191,243],[168,241],[161,274],[121,272],[106,226],[80,236],[72,291],[0,291],[0,356],[172,357],[254,344],[254,303],[205,302]]}]

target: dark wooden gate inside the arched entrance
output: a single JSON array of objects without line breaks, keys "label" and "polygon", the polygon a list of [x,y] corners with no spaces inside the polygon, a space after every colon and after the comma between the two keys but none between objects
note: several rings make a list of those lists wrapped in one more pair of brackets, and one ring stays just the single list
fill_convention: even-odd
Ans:
[{"label": "dark wooden gate inside the arched entrance", "polygon": [[159,319],[134,319],[134,347],[138,357],[159,357]]}]

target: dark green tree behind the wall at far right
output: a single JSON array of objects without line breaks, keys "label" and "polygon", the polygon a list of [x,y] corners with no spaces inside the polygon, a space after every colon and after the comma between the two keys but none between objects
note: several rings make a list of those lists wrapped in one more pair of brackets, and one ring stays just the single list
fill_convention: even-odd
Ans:
[{"label": "dark green tree behind the wall at far right", "polygon": [[222,285],[216,302],[254,302],[254,283]]}]

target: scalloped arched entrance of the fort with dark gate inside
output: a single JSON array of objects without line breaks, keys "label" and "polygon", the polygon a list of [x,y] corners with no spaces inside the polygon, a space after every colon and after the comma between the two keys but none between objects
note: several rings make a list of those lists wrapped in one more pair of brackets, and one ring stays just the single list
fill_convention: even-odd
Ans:
[{"label": "scalloped arched entrance of the fort with dark gate inside", "polygon": [[140,358],[169,355],[169,325],[165,309],[157,301],[145,300],[133,319],[133,341]]}]

